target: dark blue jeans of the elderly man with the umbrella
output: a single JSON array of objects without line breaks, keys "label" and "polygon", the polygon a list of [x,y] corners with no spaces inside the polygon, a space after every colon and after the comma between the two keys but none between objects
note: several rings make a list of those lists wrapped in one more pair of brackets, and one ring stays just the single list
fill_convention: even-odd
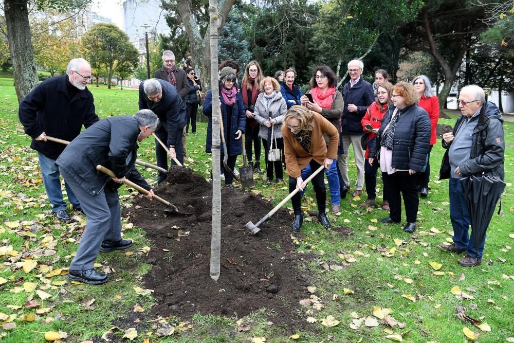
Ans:
[{"label": "dark blue jeans of the elderly man with the umbrella", "polygon": [[461,250],[466,250],[468,255],[481,259],[484,251],[484,239],[480,243],[479,249],[475,249],[475,243],[469,239],[469,213],[464,191],[462,189],[461,180],[458,178],[450,178],[450,220],[453,227],[453,243]]}]

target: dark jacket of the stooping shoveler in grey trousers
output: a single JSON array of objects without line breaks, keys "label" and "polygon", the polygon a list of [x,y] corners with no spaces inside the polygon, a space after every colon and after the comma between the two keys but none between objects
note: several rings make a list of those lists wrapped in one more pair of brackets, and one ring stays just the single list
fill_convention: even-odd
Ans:
[{"label": "dark jacket of the stooping shoveler in grey trousers", "polygon": [[140,132],[139,123],[133,116],[108,117],[74,139],[64,149],[56,164],[90,195],[98,194],[104,186],[113,190],[121,186],[111,177],[97,171],[97,165],[111,169],[117,178],[125,176],[150,190],[148,183],[134,167]]}]

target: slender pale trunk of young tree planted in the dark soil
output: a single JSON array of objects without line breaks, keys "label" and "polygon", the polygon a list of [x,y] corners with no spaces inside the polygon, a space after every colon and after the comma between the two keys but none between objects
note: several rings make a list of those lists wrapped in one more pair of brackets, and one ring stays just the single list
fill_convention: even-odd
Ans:
[{"label": "slender pale trunk of young tree planted in the dark soil", "polygon": [[[217,0],[209,0],[209,31],[210,32],[210,68],[212,84],[212,233],[211,233],[211,278],[219,278],[219,265],[221,263],[221,215],[222,196],[221,180],[219,178],[220,130],[219,130],[219,91],[218,91],[218,24],[221,23],[217,10]],[[230,128],[228,129],[230,132]],[[223,133],[222,133],[223,134]],[[228,173],[228,171],[227,171]]]}]

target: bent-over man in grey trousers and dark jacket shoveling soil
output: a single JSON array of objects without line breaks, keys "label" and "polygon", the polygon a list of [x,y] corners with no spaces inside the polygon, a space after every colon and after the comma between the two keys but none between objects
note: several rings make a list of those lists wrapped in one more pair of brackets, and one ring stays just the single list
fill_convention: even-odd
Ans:
[{"label": "bent-over man in grey trousers and dark jacket shoveling soil", "polygon": [[[59,156],[56,164],[61,175],[74,191],[87,222],[77,255],[71,261],[71,280],[102,284],[107,275],[98,273],[93,263],[99,251],[126,249],[131,240],[121,238],[121,216],[118,188],[125,178],[153,191],[134,167],[138,141],[155,131],[159,119],[150,110],[141,110],[134,116],[103,119],[74,139]],[[111,169],[116,177],[109,177],[96,169],[102,165]]]}]

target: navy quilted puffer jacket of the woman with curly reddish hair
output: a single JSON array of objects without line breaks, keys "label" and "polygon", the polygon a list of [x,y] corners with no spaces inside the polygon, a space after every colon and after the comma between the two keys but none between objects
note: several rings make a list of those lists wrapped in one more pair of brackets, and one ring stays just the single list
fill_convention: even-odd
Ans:
[{"label": "navy quilted puffer jacket of the woman with curly reddish hair", "polygon": [[[377,139],[369,144],[370,156],[375,156],[380,149],[384,129],[392,119],[394,104],[388,107],[382,119],[382,125],[377,133]],[[393,160],[391,166],[395,169],[421,171],[427,164],[430,147],[430,118],[427,111],[418,105],[405,107],[398,118],[393,136]]]}]

